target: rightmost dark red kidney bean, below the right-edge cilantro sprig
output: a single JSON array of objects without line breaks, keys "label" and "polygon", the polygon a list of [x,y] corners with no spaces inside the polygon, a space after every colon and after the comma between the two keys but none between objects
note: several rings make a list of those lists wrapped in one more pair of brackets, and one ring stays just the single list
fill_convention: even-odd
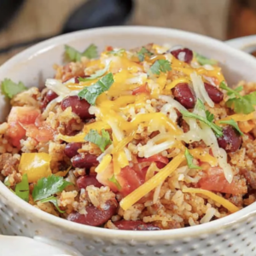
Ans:
[{"label": "rightmost dark red kidney bean, below the right-edge cilantro sprig", "polygon": [[235,152],[241,146],[241,136],[232,126],[227,125],[223,129],[223,136],[218,137],[218,146],[227,153]]}]

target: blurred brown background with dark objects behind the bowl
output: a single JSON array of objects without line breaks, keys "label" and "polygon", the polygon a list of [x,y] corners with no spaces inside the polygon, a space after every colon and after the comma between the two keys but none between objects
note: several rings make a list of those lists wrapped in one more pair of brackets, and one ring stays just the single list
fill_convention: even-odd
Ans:
[{"label": "blurred brown background with dark objects behind the bowl", "polygon": [[256,0],[0,0],[0,65],[61,32],[123,24],[225,40],[256,33]]}]

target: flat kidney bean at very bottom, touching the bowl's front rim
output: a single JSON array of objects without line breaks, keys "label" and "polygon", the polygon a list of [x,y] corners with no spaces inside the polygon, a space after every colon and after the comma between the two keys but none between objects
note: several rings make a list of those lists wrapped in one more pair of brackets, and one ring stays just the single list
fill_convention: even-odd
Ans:
[{"label": "flat kidney bean at very bottom, touching the bowl's front rim", "polygon": [[160,230],[154,224],[143,223],[143,221],[119,220],[113,223],[119,230]]}]

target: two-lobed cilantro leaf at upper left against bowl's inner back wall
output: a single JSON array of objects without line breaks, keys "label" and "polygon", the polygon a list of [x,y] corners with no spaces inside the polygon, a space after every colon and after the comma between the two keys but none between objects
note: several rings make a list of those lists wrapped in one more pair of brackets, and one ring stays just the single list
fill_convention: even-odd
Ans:
[{"label": "two-lobed cilantro leaf at upper left against bowl's inner back wall", "polygon": [[90,46],[84,49],[84,52],[82,53],[69,45],[65,45],[65,54],[70,61],[81,61],[82,56],[87,57],[88,59],[94,59],[98,55],[95,44],[90,44]]}]

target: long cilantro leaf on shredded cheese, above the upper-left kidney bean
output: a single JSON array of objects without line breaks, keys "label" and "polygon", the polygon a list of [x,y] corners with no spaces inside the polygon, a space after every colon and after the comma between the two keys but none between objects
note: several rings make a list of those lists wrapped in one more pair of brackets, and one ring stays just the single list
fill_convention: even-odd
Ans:
[{"label": "long cilantro leaf on shredded cheese, above the upper-left kidney bean", "polygon": [[79,97],[84,98],[90,105],[95,105],[97,96],[100,96],[102,92],[108,90],[113,84],[113,73],[108,73],[102,79],[99,79],[96,84],[91,84],[88,87],[84,87],[79,91]]}]

